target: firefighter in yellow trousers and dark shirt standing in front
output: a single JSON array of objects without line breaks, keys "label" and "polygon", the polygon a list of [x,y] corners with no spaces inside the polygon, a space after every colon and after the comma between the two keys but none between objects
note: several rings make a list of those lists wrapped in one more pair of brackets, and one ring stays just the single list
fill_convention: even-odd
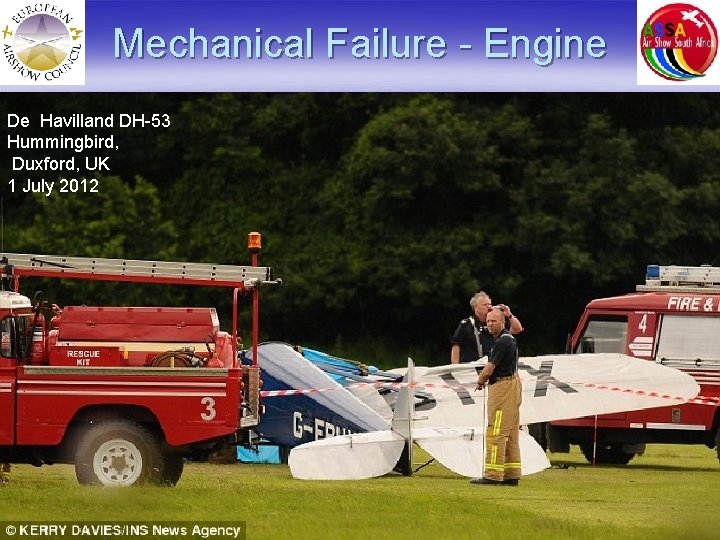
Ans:
[{"label": "firefighter in yellow trousers and dark shirt standing in front", "polygon": [[517,486],[520,470],[520,404],[522,383],[517,372],[518,348],[505,330],[505,315],[493,309],[486,318],[495,345],[478,377],[477,389],[488,386],[488,426],[485,433],[485,474],[470,482]]}]

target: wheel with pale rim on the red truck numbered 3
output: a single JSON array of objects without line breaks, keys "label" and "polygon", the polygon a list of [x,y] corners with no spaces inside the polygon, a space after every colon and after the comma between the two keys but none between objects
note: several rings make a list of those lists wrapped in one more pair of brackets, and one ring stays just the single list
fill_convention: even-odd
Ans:
[{"label": "wheel with pale rim on the red truck numbered 3", "polygon": [[81,484],[160,484],[162,465],[155,435],[135,422],[117,420],[94,424],[82,434],[75,455],[75,476]]}]

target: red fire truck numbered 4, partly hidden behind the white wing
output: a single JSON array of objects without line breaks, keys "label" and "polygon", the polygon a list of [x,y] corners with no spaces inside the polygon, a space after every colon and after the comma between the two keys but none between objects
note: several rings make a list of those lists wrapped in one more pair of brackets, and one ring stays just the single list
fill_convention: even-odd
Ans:
[{"label": "red fire truck numbered 4, partly hidden behind the white wing", "polygon": [[577,444],[591,463],[627,464],[648,443],[705,444],[720,459],[720,267],[648,266],[636,293],[587,305],[568,352],[671,366],[693,376],[700,395],[683,405],[552,422],[539,429],[550,451]]}]

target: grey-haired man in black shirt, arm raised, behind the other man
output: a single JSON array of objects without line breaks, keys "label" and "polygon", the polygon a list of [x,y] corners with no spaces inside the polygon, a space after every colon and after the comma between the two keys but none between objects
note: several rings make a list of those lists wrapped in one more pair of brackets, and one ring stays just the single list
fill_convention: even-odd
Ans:
[{"label": "grey-haired man in black shirt, arm raised, behind the other man", "polygon": [[[522,324],[512,314],[510,307],[504,304],[498,306],[502,309],[507,322],[506,327],[512,334],[519,334],[523,331]],[[450,339],[450,363],[474,362],[483,356],[490,354],[495,343],[495,338],[485,326],[485,318],[488,311],[492,309],[490,295],[484,291],[475,293],[470,299],[470,308],[473,315],[466,317],[458,324],[455,333]]]}]

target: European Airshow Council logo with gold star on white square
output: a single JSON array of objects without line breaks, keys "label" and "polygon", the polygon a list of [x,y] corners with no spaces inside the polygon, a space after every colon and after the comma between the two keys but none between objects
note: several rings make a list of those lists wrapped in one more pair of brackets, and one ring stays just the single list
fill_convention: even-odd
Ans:
[{"label": "European Airshow Council logo with gold star on white square", "polygon": [[0,16],[0,84],[85,84],[85,0],[3,0]]}]

